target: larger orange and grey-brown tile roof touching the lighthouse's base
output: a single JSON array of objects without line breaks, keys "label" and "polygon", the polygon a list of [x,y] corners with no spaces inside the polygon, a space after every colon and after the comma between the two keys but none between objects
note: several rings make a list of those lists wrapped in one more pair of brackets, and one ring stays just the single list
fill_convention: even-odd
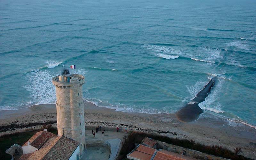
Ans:
[{"label": "larger orange and grey-brown tile roof touching the lighthouse's base", "polygon": [[[37,133],[35,134],[36,136],[40,134]],[[75,140],[55,135],[47,139],[41,148],[33,153],[22,155],[19,160],[68,160],[78,146],[79,143]]]}]

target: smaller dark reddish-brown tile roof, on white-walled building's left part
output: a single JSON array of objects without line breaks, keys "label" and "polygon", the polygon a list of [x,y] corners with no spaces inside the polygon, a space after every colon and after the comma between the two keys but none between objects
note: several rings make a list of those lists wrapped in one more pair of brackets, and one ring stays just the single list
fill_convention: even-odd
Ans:
[{"label": "smaller dark reddish-brown tile roof, on white-walled building's left part", "polygon": [[[30,145],[39,149],[49,138],[57,137],[57,135],[47,132],[47,131],[41,131],[37,132],[32,136],[28,141],[30,142]],[[28,141],[23,144],[23,146],[28,145]]]}]

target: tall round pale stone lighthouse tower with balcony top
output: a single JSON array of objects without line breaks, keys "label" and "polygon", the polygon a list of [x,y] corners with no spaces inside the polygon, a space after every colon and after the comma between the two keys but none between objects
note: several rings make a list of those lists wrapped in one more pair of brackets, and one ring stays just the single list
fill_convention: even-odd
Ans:
[{"label": "tall round pale stone lighthouse tower with balcony top", "polygon": [[85,149],[84,76],[63,74],[52,78],[56,87],[58,136],[64,135],[80,143],[80,155]]}]

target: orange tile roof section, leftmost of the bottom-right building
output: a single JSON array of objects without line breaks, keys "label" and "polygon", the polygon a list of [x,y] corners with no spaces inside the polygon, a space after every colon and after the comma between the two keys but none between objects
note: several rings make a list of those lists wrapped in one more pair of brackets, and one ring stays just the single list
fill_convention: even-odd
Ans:
[{"label": "orange tile roof section, leftmost of the bottom-right building", "polygon": [[156,149],[139,145],[132,153],[128,156],[138,158],[141,160],[150,160]]}]

